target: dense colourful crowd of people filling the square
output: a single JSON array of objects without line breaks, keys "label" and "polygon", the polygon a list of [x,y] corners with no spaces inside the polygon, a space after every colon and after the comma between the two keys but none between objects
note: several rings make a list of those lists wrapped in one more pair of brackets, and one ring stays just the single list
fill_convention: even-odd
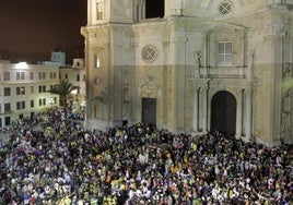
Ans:
[{"label": "dense colourful crowd of people filling the square", "polygon": [[0,145],[0,204],[221,205],[293,202],[292,145],[137,123],[89,131],[49,111]]}]

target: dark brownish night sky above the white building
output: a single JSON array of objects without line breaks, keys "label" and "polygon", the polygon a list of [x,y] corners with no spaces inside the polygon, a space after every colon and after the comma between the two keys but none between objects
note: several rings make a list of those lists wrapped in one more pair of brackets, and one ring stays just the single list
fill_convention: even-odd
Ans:
[{"label": "dark brownish night sky above the white building", "polygon": [[0,7],[0,59],[36,63],[49,60],[57,45],[72,58],[84,57],[81,26],[86,0],[3,0]]}]

